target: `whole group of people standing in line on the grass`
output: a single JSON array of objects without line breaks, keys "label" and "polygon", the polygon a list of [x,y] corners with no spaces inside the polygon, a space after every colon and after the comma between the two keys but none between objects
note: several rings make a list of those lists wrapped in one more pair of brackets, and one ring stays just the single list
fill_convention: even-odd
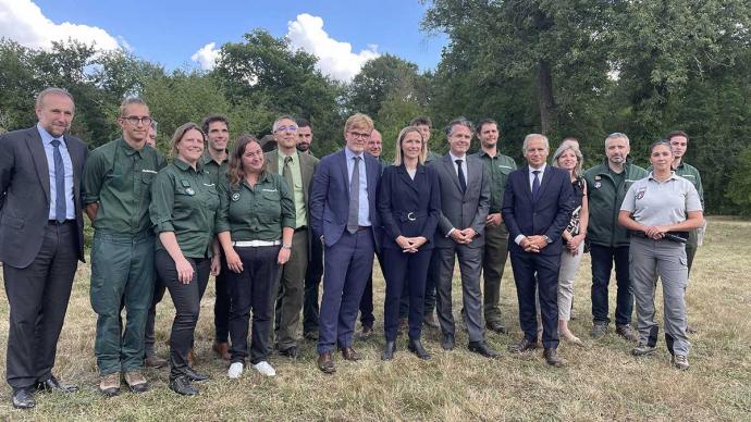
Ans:
[{"label": "whole group of people standing in line on the grass", "polygon": [[[565,139],[547,165],[547,138],[528,135],[527,163],[517,170],[498,151],[496,122],[452,121],[448,152],[438,156],[429,150],[430,120],[418,117],[398,134],[390,165],[365,114],[347,119],[346,145],[320,161],[310,153],[307,121],[278,117],[276,149],[264,153],[250,135],[229,148],[230,124],[213,115],[176,129],[168,163],[152,147],[156,123],[141,99],[123,101],[122,137],[90,153],[66,133],[74,112],[67,91],[48,88],[37,97],[38,124],[0,137],[0,261],[11,306],[7,380],[16,408],[34,407],[36,390],[77,389],[57,380],[52,367],[77,261],[85,258],[84,212],[95,231],[90,301],[99,388],[108,396],[120,393],[121,378],[132,392],[146,392],[144,365],[168,363],[170,388],[198,393],[194,383],[209,376],[194,368],[194,333],[211,274],[212,348],[230,361],[230,378],[248,362],[275,375],[272,349],[297,358],[300,313],[304,336],[318,342],[318,369],[335,372],[335,350],[359,359],[353,347],[358,313],[362,334],[372,334],[374,257],[386,285],[383,360],[394,358],[402,326],[420,359],[430,359],[423,325],[440,328],[442,349],[455,347],[457,260],[467,347],[498,357],[485,330],[506,333],[498,302],[510,256],[524,332],[510,350],[542,345],[545,361],[562,365],[559,337],[581,344],[568,320],[584,244],[592,256],[592,336],[607,331],[615,262],[616,332],[637,343],[633,355],[654,352],[660,276],[667,347],[674,364],[688,368],[684,294],[692,258],[686,244],[695,251],[692,232],[703,216],[699,173],[680,160],[684,133],[651,147],[649,174],[627,160],[628,138],[617,133],[605,139],[605,163],[587,172],[576,139]],[[481,150],[468,154],[475,135]],[[167,361],[153,348],[156,306],[165,289],[175,307]]]}]

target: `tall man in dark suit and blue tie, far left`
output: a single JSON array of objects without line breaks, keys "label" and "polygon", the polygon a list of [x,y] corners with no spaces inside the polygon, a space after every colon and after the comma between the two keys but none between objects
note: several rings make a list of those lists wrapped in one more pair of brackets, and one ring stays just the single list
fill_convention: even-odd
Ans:
[{"label": "tall man in dark suit and blue tie, far left", "polygon": [[13,407],[34,389],[75,392],[52,375],[77,261],[84,261],[81,175],[86,144],[65,135],[75,105],[60,88],[39,92],[36,126],[0,137],[0,261],[10,302],[5,378]]}]

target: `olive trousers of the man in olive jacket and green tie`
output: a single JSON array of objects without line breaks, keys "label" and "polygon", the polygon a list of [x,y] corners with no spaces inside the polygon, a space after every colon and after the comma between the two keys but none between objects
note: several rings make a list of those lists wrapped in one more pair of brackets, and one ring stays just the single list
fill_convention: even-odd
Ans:
[{"label": "olive trousers of the man in olive jacket and green tie", "polygon": [[297,325],[305,293],[305,272],[308,268],[308,231],[303,228],[292,237],[290,260],[282,266],[276,296],[274,334],[279,350],[297,346]]}]

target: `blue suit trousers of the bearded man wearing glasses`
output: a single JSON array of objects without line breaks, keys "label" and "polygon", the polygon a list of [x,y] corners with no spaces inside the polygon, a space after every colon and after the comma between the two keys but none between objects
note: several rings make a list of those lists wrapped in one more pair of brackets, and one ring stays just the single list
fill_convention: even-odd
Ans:
[{"label": "blue suit trousers of the bearded man wearing glasses", "polygon": [[352,347],[355,321],[368,274],[373,271],[376,243],[371,228],[344,232],[325,247],[323,299],[321,300],[318,353],[334,346]]}]

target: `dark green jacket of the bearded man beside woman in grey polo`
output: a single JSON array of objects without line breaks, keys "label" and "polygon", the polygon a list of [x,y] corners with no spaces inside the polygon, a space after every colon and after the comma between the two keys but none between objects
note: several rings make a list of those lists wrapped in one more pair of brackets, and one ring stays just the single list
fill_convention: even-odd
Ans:
[{"label": "dark green jacket of the bearded man beside woman in grey polo", "polygon": [[628,188],[633,182],[647,177],[647,170],[626,162],[624,171],[626,179],[619,187],[611,176],[607,160],[584,172],[589,194],[587,238],[592,244],[611,248],[629,245],[626,228],[618,224],[618,212]]}]

